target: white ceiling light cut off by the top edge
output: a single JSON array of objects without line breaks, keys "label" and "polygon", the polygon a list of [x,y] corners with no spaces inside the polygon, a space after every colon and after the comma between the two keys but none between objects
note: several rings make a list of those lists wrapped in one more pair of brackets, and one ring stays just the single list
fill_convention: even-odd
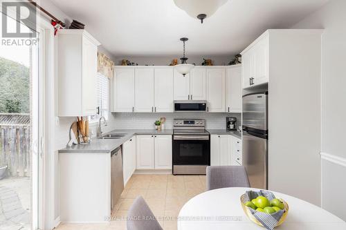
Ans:
[{"label": "white ceiling light cut off by the top edge", "polygon": [[203,20],[212,16],[228,0],[174,0],[176,6],[193,18]]}]

